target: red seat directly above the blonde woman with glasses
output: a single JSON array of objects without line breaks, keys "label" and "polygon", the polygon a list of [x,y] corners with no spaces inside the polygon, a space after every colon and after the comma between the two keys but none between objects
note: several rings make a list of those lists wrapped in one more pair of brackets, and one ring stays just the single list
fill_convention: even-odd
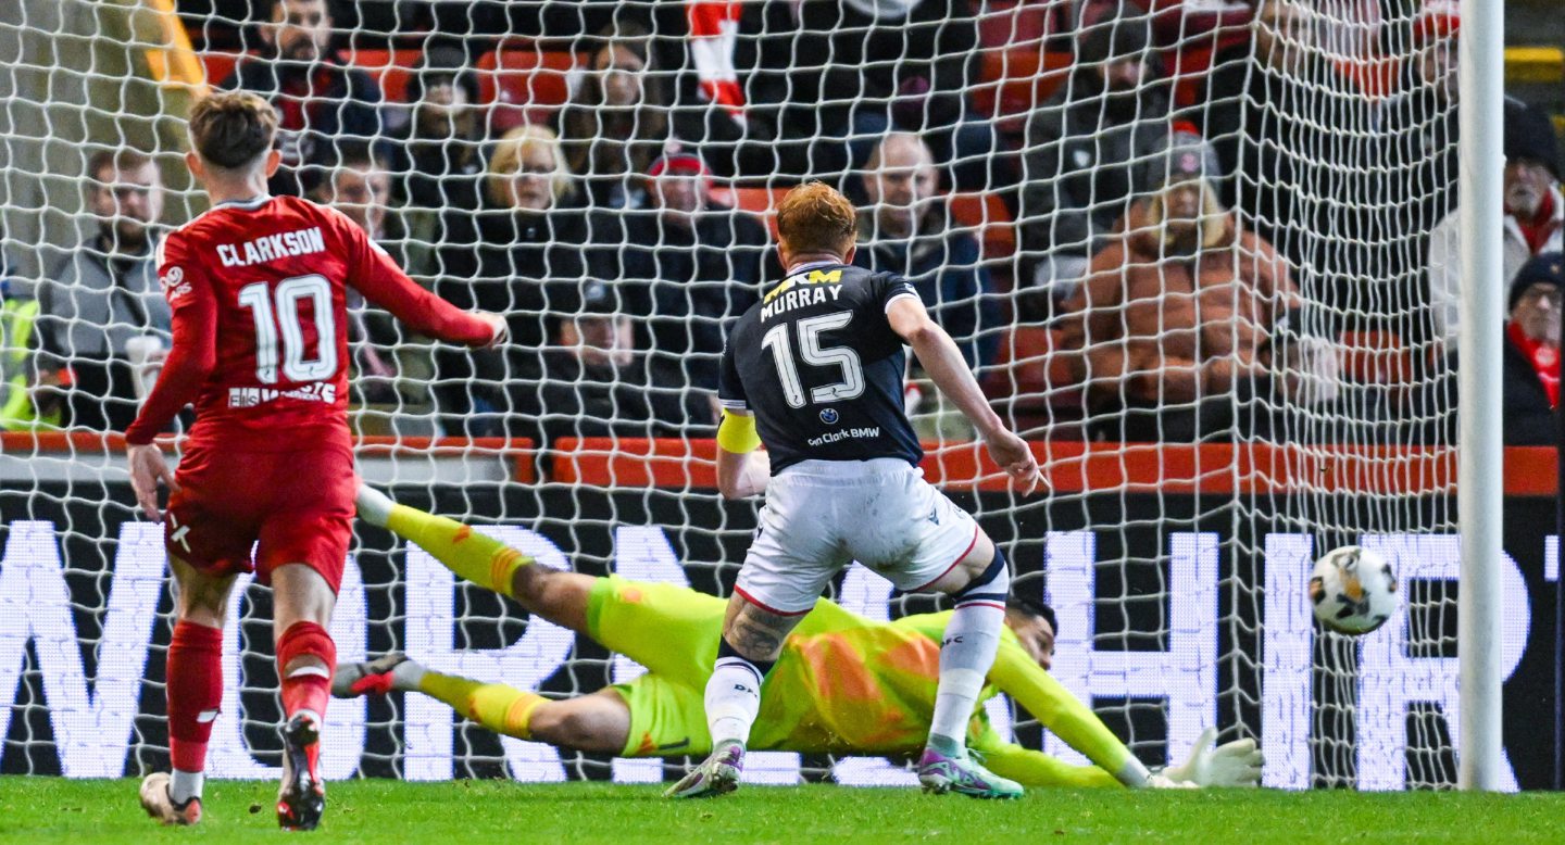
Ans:
[{"label": "red seat directly above the blonde woman with glasses", "polygon": [[479,100],[493,106],[490,131],[548,124],[549,116],[570,100],[571,74],[582,66],[585,55],[534,45],[502,45],[485,53],[477,63],[477,75]]}]

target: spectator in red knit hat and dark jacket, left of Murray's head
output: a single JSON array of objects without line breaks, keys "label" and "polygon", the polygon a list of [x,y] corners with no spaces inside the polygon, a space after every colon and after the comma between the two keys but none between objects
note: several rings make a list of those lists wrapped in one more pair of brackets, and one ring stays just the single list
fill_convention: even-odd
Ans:
[{"label": "spectator in red knit hat and dark jacket, left of Murray's head", "polygon": [[642,211],[593,214],[592,275],[617,280],[620,308],[637,341],[679,387],[712,393],[723,327],[782,279],[765,225],[712,202],[695,153],[659,158]]}]

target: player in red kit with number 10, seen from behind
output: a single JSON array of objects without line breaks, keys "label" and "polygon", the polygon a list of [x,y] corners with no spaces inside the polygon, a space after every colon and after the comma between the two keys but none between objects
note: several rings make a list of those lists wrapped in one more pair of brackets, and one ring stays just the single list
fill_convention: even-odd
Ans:
[{"label": "player in red kit with number 10, seen from behind", "polygon": [[[196,103],[189,122],[192,152],[185,158],[211,210],[160,247],[174,346],[125,430],[131,487],[142,510],[164,524],[178,587],[167,659],[174,771],[149,775],[141,803],[169,825],[200,820],[207,740],[222,701],[228,592],[239,573],[254,570],[272,587],[282,679],[277,820],[310,829],[326,807],[319,735],[336,665],[327,629],[357,488],[346,291],[449,343],[499,343],[505,324],[415,285],[341,213],[269,197],[277,116],[260,97],[214,94]],[[169,473],[152,440],[189,402],[196,424],[178,473]],[[160,480],[169,487],[161,513]]]}]

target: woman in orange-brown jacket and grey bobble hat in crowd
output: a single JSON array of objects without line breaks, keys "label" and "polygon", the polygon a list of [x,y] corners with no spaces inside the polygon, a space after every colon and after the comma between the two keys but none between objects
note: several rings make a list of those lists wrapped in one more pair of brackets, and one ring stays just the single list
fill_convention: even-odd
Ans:
[{"label": "woman in orange-brown jacket and grey bobble hat in crowd", "polygon": [[1175,133],[1064,304],[1072,380],[1089,437],[1193,443],[1232,433],[1232,393],[1266,376],[1258,351],[1301,304],[1288,264],[1224,208],[1221,171],[1199,136]]}]

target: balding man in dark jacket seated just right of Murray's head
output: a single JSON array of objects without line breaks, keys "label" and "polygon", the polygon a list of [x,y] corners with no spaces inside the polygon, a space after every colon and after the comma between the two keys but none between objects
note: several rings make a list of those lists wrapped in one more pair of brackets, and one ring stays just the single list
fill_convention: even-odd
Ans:
[{"label": "balding man in dark jacket seated just right of Murray's head", "polygon": [[972,232],[952,228],[934,199],[934,160],[919,136],[895,131],[870,153],[853,263],[906,277],[967,366],[994,363],[1000,316],[989,268]]}]

